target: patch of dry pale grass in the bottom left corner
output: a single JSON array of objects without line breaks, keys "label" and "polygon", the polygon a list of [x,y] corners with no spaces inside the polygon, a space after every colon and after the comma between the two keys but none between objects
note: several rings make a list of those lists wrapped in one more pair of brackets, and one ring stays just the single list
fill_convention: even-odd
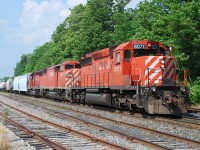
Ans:
[{"label": "patch of dry pale grass in the bottom left corner", "polygon": [[0,150],[9,150],[11,147],[8,138],[8,131],[0,124]]}]

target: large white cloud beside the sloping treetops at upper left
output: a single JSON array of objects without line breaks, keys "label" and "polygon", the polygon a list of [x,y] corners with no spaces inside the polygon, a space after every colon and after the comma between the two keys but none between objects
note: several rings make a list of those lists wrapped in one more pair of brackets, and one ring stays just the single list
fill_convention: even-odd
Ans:
[{"label": "large white cloud beside the sloping treetops at upper left", "polygon": [[20,28],[17,34],[26,43],[44,43],[50,40],[56,27],[69,16],[69,8],[77,4],[86,3],[86,0],[45,0],[38,3],[36,0],[26,0],[23,3],[23,12],[20,17]]}]

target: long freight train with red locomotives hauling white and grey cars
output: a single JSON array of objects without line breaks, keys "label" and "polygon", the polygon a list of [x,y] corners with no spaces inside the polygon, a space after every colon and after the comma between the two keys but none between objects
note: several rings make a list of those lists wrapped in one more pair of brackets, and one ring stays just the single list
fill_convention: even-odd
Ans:
[{"label": "long freight train with red locomotives hauling white and grey cars", "polygon": [[187,70],[183,82],[177,70],[171,48],[132,40],[15,77],[7,85],[33,96],[176,115],[189,106]]}]

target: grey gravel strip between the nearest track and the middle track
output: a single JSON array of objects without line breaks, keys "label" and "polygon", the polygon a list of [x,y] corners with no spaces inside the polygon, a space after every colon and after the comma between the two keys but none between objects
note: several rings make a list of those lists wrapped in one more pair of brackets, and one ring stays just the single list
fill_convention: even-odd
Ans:
[{"label": "grey gravel strip between the nearest track and the middle track", "polygon": [[[60,124],[63,126],[71,127],[74,130],[81,131],[81,132],[93,135],[95,137],[99,137],[106,141],[110,141],[115,144],[118,144],[118,145],[121,145],[124,147],[128,147],[130,149],[137,149],[137,150],[149,150],[150,149],[148,147],[139,145],[137,143],[131,143],[131,142],[127,141],[126,139],[123,139],[119,136],[114,136],[111,133],[108,133],[103,130],[97,130],[97,129],[90,128],[88,126],[83,126],[82,124],[79,124],[79,123],[69,120],[69,119],[56,118],[54,115],[52,115],[51,113],[47,113],[40,107],[34,107],[34,106],[31,106],[30,104],[26,104],[26,103],[23,103],[23,104],[18,103],[16,101],[13,101],[13,100],[5,98],[5,97],[1,97],[0,101],[3,101],[4,103],[11,105],[13,107],[18,107],[20,110],[28,112],[37,117],[43,118],[45,120],[48,120],[48,121],[51,121],[51,122],[54,122],[54,123],[57,123],[57,124]],[[6,109],[7,109],[7,111],[9,111],[9,108],[6,108]]]}]

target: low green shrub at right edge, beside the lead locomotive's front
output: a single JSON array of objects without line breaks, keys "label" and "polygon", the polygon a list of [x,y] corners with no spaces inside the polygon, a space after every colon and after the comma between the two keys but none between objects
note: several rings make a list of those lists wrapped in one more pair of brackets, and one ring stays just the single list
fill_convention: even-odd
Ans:
[{"label": "low green shrub at right edge, beside the lead locomotive's front", "polygon": [[190,86],[190,99],[194,105],[200,104],[200,77]]}]

